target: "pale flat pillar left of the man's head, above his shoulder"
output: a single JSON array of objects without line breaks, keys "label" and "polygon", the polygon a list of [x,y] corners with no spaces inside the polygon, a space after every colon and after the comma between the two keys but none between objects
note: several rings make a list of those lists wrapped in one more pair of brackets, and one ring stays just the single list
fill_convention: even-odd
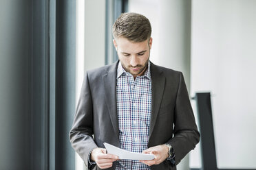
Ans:
[{"label": "pale flat pillar left of the man's head, above his shoulder", "polygon": [[85,1],[85,70],[105,65],[105,1]]}]

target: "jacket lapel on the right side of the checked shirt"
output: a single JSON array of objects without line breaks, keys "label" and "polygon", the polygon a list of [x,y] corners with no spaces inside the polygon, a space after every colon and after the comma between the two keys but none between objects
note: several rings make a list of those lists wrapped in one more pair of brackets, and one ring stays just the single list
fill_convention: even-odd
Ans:
[{"label": "jacket lapel on the right side of the checked shirt", "polygon": [[152,103],[151,103],[151,120],[149,127],[149,139],[156,124],[162,95],[164,93],[165,77],[161,76],[162,71],[151,62],[151,83],[152,83]]}]

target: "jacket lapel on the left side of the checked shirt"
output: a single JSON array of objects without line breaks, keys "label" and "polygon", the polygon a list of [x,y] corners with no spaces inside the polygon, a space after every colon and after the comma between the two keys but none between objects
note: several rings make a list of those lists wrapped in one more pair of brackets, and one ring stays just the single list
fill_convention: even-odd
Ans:
[{"label": "jacket lapel on the left side of the checked shirt", "polygon": [[107,73],[103,75],[103,82],[105,88],[105,101],[107,103],[107,108],[109,111],[109,116],[111,123],[113,125],[114,131],[119,138],[118,129],[118,117],[117,117],[117,106],[116,106],[116,70],[118,62],[112,64]]}]

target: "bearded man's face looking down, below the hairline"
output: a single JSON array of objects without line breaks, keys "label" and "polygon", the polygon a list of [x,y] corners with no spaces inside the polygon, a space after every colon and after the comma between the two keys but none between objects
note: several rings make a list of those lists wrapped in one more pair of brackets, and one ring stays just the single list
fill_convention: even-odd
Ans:
[{"label": "bearded man's face looking down, below the hairline", "polygon": [[113,40],[118,53],[118,58],[125,71],[134,75],[142,75],[147,70],[152,38],[142,42],[131,42],[127,38]]}]

